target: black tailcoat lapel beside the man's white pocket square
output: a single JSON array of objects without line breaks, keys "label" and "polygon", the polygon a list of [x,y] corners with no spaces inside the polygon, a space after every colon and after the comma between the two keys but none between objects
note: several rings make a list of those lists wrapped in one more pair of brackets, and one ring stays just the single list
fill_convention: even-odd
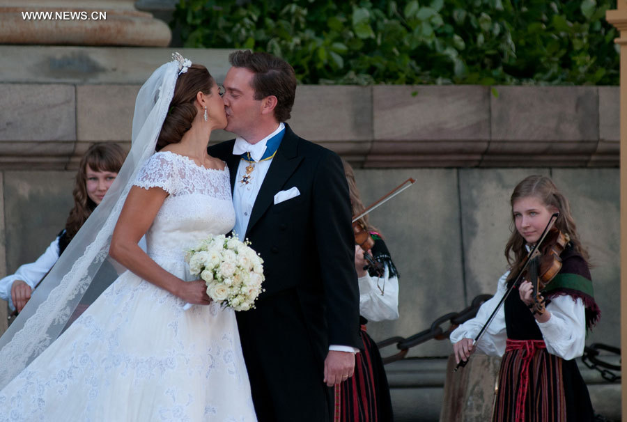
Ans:
[{"label": "black tailcoat lapel beside the man's white pocket square", "polygon": [[265,175],[265,178],[261,183],[261,189],[259,189],[259,193],[250,214],[250,220],[248,222],[245,237],[248,237],[248,233],[251,228],[254,227],[257,221],[264,214],[265,210],[268,210],[268,207],[274,203],[274,194],[279,192],[284,187],[285,182],[292,175],[292,173],[294,173],[298,164],[302,161],[303,157],[297,156],[298,136],[292,132],[287,124],[285,126],[285,136],[281,141],[277,154],[274,155],[274,158],[272,159],[268,173]]}]

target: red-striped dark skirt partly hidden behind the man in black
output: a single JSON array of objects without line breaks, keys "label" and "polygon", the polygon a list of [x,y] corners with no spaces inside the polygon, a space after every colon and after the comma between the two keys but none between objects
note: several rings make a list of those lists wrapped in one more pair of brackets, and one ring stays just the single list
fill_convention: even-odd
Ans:
[{"label": "red-striped dark skirt partly hidden behind the man in black", "polygon": [[355,354],[355,375],[335,386],[334,422],[392,422],[392,400],[378,347],[362,325],[364,350]]}]

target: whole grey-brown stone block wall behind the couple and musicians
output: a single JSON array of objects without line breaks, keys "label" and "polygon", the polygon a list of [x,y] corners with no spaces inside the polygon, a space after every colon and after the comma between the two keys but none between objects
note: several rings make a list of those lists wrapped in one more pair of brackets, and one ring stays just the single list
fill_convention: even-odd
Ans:
[{"label": "whole grey-brown stone block wall behind the couple and musicians", "polygon": [[[224,79],[228,51],[180,52]],[[63,228],[86,148],[129,146],[134,96],[170,54],[0,46],[13,58],[0,61],[0,276],[36,259]],[[618,87],[298,86],[288,123],[354,164],[364,203],[417,180],[371,214],[401,273],[401,318],[371,323],[373,338],[410,336],[493,293],[506,265],[511,190],[543,173],[570,198],[595,265],[603,315],[587,343],[619,346],[618,104]],[[408,356],[450,352],[448,341],[429,341]],[[439,414],[442,384],[429,388],[426,405]],[[396,400],[411,404],[403,391]]]}]

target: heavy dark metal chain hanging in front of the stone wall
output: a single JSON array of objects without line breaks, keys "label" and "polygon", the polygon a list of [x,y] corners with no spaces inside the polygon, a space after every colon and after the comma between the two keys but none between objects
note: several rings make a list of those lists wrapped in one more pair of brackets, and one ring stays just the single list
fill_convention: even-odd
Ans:
[{"label": "heavy dark metal chain hanging in front of the stone wall", "polygon": [[[486,302],[486,300],[490,299],[491,297],[492,295],[479,295],[472,299],[472,303],[470,304],[470,306],[465,308],[463,311],[451,312],[442,315],[440,318],[435,320],[433,324],[431,324],[431,327],[420,331],[419,333],[416,333],[408,338],[395,336],[386,338],[385,340],[378,342],[377,347],[379,349],[396,344],[396,348],[400,350],[400,352],[393,354],[392,356],[382,358],[383,364],[389,364],[391,362],[403,359],[409,352],[410,347],[425,343],[432,338],[435,338],[435,340],[445,340],[449,338],[451,331],[456,329],[459,325],[463,324],[467,320],[474,318],[475,315],[477,315],[481,304],[483,304],[483,302]],[[449,322],[449,327],[447,329],[442,329],[442,324],[446,322]],[[598,359],[599,349],[618,354],[619,356],[621,354],[621,350],[618,347],[612,347],[601,343],[593,343],[585,347],[584,354],[581,357],[581,360],[588,368],[598,370],[605,380],[610,382],[619,381],[621,379],[620,375],[616,375],[612,372],[612,370],[617,370],[620,373],[621,366],[608,364],[607,362]]]}]

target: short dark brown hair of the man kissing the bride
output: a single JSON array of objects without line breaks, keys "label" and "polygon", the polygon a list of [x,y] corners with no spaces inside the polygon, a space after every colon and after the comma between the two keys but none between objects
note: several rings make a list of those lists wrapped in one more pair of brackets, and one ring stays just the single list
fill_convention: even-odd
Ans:
[{"label": "short dark brown hair of the man kissing the bride", "polygon": [[255,100],[274,95],[277,106],[274,117],[279,122],[290,118],[296,95],[296,75],[294,68],[282,58],[263,52],[238,51],[229,54],[229,62],[235,68],[245,68],[255,75],[252,88]]}]

